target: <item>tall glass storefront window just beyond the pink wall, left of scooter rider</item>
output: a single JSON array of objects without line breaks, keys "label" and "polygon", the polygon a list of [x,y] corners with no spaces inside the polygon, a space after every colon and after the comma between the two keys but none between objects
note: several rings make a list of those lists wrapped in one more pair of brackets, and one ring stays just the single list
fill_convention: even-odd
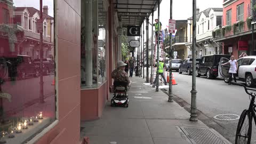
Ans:
[{"label": "tall glass storefront window just beyond the pink wall, left of scooter rider", "polygon": [[102,0],[90,2],[81,1],[82,89],[99,87],[106,81],[107,10]]}]

